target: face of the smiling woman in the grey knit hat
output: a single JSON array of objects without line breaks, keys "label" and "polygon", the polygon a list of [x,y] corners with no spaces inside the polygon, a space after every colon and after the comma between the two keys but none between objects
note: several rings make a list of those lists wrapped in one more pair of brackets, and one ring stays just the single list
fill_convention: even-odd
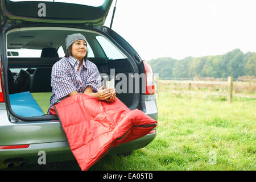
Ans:
[{"label": "face of the smiling woman in the grey knit hat", "polygon": [[71,53],[73,57],[81,61],[87,53],[87,44],[84,40],[77,40],[72,44]]}]

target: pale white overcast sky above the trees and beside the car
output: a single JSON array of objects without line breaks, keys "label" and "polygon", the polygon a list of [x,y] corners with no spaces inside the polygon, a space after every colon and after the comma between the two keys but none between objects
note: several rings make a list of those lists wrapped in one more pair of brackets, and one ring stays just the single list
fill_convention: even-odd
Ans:
[{"label": "pale white overcast sky above the trees and beside the car", "polygon": [[112,29],[143,60],[256,52],[255,9],[255,0],[118,0]]}]

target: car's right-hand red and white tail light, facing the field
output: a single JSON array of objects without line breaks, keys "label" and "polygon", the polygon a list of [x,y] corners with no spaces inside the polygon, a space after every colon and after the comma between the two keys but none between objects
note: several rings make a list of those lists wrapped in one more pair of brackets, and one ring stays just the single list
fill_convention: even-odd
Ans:
[{"label": "car's right-hand red and white tail light, facing the field", "polygon": [[152,68],[146,61],[143,61],[145,74],[146,74],[146,95],[155,93],[155,81],[154,81],[154,73],[152,72]]}]

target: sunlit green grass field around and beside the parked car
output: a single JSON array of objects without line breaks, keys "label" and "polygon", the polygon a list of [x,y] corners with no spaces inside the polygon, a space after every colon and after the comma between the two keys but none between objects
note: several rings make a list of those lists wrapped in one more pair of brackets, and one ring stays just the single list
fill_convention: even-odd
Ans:
[{"label": "sunlit green grass field around and beside the parked car", "polygon": [[[89,170],[255,170],[256,100],[160,92],[157,136],[130,156],[105,156]],[[23,170],[80,170],[75,161]]]}]

